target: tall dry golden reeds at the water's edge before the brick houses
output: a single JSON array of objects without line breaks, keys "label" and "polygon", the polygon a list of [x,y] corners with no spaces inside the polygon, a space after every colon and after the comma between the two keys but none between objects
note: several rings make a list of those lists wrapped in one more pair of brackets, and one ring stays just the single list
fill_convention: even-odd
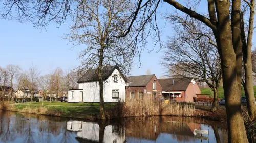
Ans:
[{"label": "tall dry golden reeds at the water's edge before the brick houses", "polygon": [[128,99],[116,103],[108,113],[108,118],[133,117],[133,116],[195,116],[195,105],[185,102],[161,103],[154,98]]}]

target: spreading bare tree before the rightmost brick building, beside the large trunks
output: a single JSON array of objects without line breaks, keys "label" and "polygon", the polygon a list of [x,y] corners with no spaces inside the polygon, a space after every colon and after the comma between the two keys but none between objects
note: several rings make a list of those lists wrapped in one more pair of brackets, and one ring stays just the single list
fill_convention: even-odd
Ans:
[{"label": "spreading bare tree before the rightmost brick building, beside the large trunks", "polygon": [[[162,65],[167,67],[168,74],[173,74],[172,77],[206,82],[214,92],[211,111],[216,111],[222,74],[217,45],[201,22],[188,17],[183,19],[177,14],[169,16],[171,22],[176,23],[175,33],[173,37],[169,37]],[[208,33],[205,34],[206,32]]]}]

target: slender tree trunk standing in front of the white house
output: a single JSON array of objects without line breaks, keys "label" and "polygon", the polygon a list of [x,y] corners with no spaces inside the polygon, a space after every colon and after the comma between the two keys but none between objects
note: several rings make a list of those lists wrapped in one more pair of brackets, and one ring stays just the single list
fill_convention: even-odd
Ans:
[{"label": "slender tree trunk standing in front of the white house", "polygon": [[104,102],[104,83],[102,79],[102,67],[103,67],[103,46],[100,49],[99,65],[98,65],[98,79],[99,79],[99,118],[102,120],[106,119],[105,114],[105,102]]}]

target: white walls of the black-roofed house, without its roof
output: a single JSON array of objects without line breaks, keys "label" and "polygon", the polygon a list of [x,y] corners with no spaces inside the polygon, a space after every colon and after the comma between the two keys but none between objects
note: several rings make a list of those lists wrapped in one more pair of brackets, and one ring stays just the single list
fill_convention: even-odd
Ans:
[{"label": "white walls of the black-roofed house, without its roof", "polygon": [[[114,82],[113,76],[117,75],[117,82]],[[99,102],[99,83],[85,82],[79,83],[79,89],[83,89],[83,102]],[[118,89],[119,98],[112,98],[112,90]],[[69,93],[70,94],[70,93]],[[113,71],[111,76],[104,81],[104,101],[118,102],[119,100],[125,102],[125,81],[120,76],[117,69]]]}]

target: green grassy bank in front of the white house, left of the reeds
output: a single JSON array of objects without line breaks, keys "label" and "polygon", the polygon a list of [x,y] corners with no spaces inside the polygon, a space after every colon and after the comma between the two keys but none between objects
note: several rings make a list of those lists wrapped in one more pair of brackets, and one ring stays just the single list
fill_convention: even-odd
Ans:
[{"label": "green grassy bank in front of the white house, left of the reeds", "polygon": [[[105,104],[110,110],[114,104]],[[99,112],[99,103],[32,102],[9,105],[10,111],[61,116],[71,118],[95,119]]]}]

